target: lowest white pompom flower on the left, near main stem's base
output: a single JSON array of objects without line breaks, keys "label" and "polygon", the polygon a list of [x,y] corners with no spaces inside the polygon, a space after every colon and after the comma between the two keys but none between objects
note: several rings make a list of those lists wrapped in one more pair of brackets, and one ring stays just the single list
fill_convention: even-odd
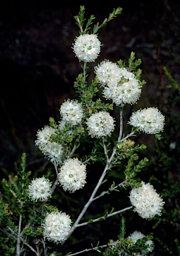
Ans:
[{"label": "lowest white pompom flower on the left, near main stem's base", "polygon": [[45,217],[43,235],[54,243],[63,243],[71,229],[71,219],[66,213],[51,212]]}]

